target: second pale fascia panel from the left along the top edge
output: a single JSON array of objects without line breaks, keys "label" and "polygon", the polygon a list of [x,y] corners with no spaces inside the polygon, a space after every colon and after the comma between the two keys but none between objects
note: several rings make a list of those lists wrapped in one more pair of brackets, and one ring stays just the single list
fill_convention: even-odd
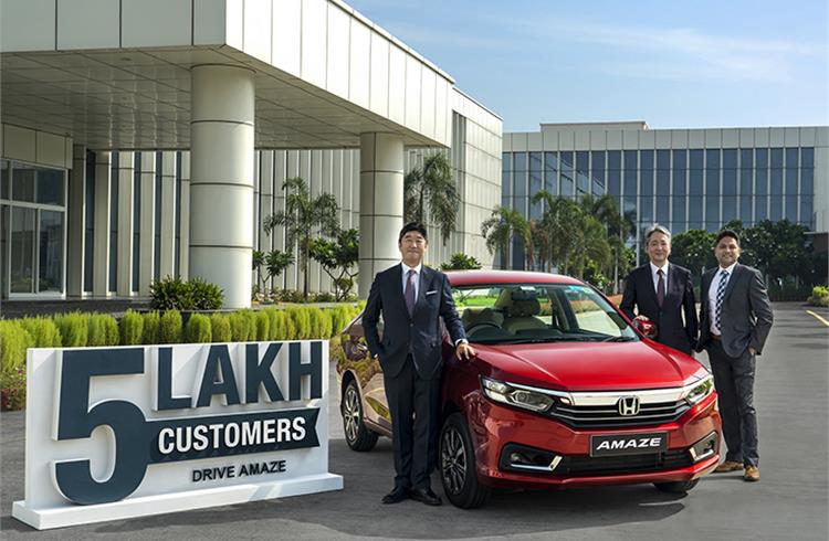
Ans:
[{"label": "second pale fascia panel from the left along the top edge", "polygon": [[120,2],[57,0],[57,49],[115,49],[120,45]]}]

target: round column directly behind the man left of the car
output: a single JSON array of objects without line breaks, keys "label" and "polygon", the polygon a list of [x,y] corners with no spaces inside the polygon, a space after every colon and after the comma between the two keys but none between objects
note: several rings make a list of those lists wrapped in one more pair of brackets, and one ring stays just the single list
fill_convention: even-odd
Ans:
[{"label": "round column directly behind the man left of the car", "polygon": [[400,262],[403,225],[403,140],[392,134],[360,135],[359,296],[375,275]]}]

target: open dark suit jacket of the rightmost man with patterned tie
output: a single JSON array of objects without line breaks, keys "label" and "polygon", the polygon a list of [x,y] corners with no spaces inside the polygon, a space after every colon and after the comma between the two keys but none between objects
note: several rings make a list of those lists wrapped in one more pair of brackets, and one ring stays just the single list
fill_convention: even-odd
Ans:
[{"label": "open dark suit jacket of the rightmost man with patterned tie", "polygon": [[[712,268],[702,275],[702,299],[700,299],[700,343],[696,350],[711,341],[711,318],[709,309],[709,289],[720,267]],[[730,357],[741,357],[748,348],[757,354],[763,351],[768,332],[772,330],[774,315],[768,300],[763,275],[756,268],[736,264],[733,274],[725,285],[723,314],[720,317],[723,332],[723,349]]]}]

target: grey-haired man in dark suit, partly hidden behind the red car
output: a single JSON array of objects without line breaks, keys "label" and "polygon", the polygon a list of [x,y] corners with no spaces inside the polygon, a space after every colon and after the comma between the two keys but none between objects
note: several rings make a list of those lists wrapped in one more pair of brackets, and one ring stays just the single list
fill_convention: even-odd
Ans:
[{"label": "grey-haired man in dark suit, partly hidden behind the red car", "polygon": [[653,321],[658,342],[690,354],[696,346],[697,328],[691,272],[668,263],[671,233],[665,227],[654,225],[644,238],[650,262],[628,276],[620,308],[630,319]]}]

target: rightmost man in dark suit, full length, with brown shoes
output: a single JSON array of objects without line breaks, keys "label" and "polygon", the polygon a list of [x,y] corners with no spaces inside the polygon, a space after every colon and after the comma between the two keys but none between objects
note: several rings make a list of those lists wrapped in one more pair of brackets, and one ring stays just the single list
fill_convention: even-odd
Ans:
[{"label": "rightmost man in dark suit, full length, with brown shoes", "polygon": [[709,352],[728,446],[725,462],[714,471],[745,469],[745,480],[758,481],[754,373],[756,356],[772,329],[772,304],[759,270],[737,263],[735,232],[720,232],[714,255],[720,266],[702,276],[697,344],[697,351]]}]

